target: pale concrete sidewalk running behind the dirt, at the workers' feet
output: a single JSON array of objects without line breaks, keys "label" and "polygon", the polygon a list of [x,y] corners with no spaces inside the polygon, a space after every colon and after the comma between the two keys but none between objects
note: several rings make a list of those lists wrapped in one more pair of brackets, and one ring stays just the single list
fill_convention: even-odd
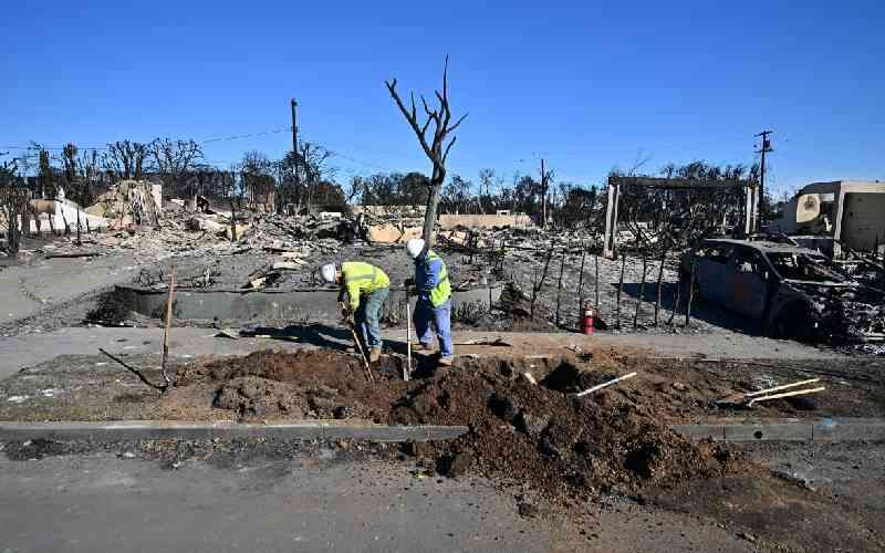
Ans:
[{"label": "pale concrete sidewalk running behind the dirt, at the workers' feet", "polygon": [[[344,327],[308,326],[294,331],[285,340],[247,337],[231,340],[216,337],[214,328],[176,327],[171,331],[170,354],[176,357],[195,355],[247,355],[251,352],[304,347],[344,348],[351,345],[350,332]],[[388,347],[405,353],[405,330],[386,330]],[[501,338],[510,347],[466,345],[475,341]],[[707,358],[766,358],[766,359],[839,359],[832,352],[818,349],[796,342],[769,340],[759,336],[722,334],[603,334],[593,336],[572,333],[507,333],[456,332],[459,355],[555,355],[571,353],[566,347],[614,348],[634,351],[655,356]],[[30,367],[59,355],[98,354],[103,347],[119,354],[159,354],[163,344],[162,328],[66,327],[43,334],[0,338],[0,378],[24,367]],[[460,344],[460,345],[458,345]]]}]

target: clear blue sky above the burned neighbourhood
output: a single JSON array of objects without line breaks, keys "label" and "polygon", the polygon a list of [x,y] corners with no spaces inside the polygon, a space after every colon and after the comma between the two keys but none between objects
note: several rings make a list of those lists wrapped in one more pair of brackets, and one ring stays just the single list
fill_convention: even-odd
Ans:
[{"label": "clear blue sky above the burned neighbourhood", "polygon": [[[428,173],[383,81],[431,94],[448,53],[470,113],[450,174],[509,180],[544,156],[592,185],[638,156],[749,164],[770,128],[775,188],[885,179],[881,2],[492,3],[6,2],[0,152],[277,129],[294,95],[303,138],[347,156],[340,180]],[[205,153],[289,147],[277,133]]]}]

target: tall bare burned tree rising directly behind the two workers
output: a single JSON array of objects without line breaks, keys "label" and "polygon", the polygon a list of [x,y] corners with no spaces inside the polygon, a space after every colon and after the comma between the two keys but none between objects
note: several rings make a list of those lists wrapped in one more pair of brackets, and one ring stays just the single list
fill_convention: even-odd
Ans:
[{"label": "tall bare burned tree rising directly behind the two workers", "polygon": [[[446,180],[446,159],[449,156],[451,147],[455,145],[457,136],[452,136],[448,144],[446,144],[446,140],[449,134],[458,128],[458,126],[464,122],[465,117],[467,117],[467,114],[464,114],[454,124],[451,123],[451,111],[449,108],[448,96],[448,66],[449,56],[447,55],[446,62],[442,65],[442,92],[435,91],[438,106],[434,109],[430,109],[430,107],[427,105],[427,101],[424,98],[424,95],[420,96],[424,113],[427,117],[424,124],[418,122],[418,112],[415,107],[415,94],[409,94],[412,97],[412,104],[410,108],[408,108],[403,103],[399,94],[396,92],[396,79],[384,82],[384,84],[387,85],[387,90],[391,92],[391,96],[399,107],[399,111],[403,112],[403,116],[412,126],[412,129],[415,131],[415,135],[418,137],[418,143],[420,144],[421,149],[434,165],[434,169],[430,175],[430,181],[428,184],[429,197],[427,198],[427,211],[424,215],[423,236],[427,248],[433,246],[434,242],[434,225],[436,225],[436,211],[437,206],[439,205],[439,194],[442,188],[442,182]],[[434,124],[434,133],[428,143],[427,131],[430,128],[431,123]]]}]

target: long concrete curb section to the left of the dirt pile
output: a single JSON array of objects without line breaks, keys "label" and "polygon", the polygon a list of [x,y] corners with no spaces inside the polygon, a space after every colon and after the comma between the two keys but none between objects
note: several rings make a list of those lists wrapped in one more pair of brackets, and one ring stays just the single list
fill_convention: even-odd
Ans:
[{"label": "long concrete curb section to the left of the dirt pile", "polygon": [[305,421],[289,425],[242,425],[236,422],[174,422],[121,420],[111,422],[0,422],[0,441],[97,440],[131,441],[156,439],[360,439],[368,441],[434,441],[454,439],[467,432],[464,426],[376,426],[339,421]]}]

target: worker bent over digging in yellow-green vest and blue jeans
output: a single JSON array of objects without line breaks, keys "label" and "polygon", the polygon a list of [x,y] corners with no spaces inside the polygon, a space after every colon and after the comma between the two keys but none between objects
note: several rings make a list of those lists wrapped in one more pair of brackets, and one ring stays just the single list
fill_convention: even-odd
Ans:
[{"label": "worker bent over digging in yellow-green vest and blue jeans", "polygon": [[[345,261],[341,269],[329,263],[320,269],[323,280],[341,286],[339,305],[351,325],[358,324],[363,342],[371,349],[368,361],[381,358],[379,314],[384,300],[391,293],[391,279],[375,265],[362,261]],[[344,303],[344,294],[347,303]]]}]

